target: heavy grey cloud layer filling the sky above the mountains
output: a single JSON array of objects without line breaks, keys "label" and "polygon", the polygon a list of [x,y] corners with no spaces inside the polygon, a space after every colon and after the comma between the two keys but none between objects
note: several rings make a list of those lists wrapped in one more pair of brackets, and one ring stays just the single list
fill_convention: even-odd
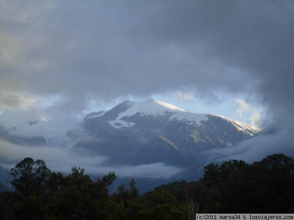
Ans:
[{"label": "heavy grey cloud layer filling the sky above the mountains", "polygon": [[12,56],[18,62],[1,60],[1,81],[9,82],[1,90],[59,93],[67,98],[62,109],[82,109],[89,96],[107,100],[181,88],[206,99],[245,93],[281,114],[293,108],[293,1],[1,6],[2,31],[21,42]]}]

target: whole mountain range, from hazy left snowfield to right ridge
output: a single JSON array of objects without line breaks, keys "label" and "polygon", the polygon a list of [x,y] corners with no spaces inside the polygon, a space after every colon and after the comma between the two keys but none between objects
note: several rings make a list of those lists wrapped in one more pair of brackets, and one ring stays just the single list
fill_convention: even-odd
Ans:
[{"label": "whole mountain range, from hazy left snowfield to right ridge", "polygon": [[68,149],[63,152],[81,154],[92,162],[95,156],[102,156],[107,169],[122,165],[145,169],[145,165],[164,164],[177,170],[162,182],[136,178],[143,191],[166,181],[197,179],[203,166],[211,162],[207,151],[234,148],[257,132],[224,116],[193,113],[155,100],[126,100],[111,110],[89,113],[81,123],[35,111],[0,115],[0,140]]}]

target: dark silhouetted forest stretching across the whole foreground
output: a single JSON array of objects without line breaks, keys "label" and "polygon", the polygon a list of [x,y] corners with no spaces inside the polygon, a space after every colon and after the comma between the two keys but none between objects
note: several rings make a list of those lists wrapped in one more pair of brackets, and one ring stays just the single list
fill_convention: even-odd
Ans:
[{"label": "dark silhouetted forest stretching across the whole foreground", "polygon": [[135,180],[113,194],[114,172],[95,180],[83,168],[65,176],[43,160],[11,169],[15,191],[0,194],[1,220],[194,220],[196,213],[294,213],[294,160],[269,155],[247,164],[204,167],[197,181],[172,182],[140,195]]}]

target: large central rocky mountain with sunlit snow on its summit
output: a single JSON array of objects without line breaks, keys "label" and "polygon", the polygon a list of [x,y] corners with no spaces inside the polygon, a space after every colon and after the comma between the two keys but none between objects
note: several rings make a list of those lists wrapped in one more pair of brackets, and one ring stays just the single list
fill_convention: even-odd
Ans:
[{"label": "large central rocky mountain with sunlit snow on its summit", "polygon": [[258,131],[229,118],[192,113],[168,103],[148,100],[120,103],[108,111],[88,114],[86,133],[73,149],[106,155],[112,164],[202,164],[203,151],[234,147]]}]

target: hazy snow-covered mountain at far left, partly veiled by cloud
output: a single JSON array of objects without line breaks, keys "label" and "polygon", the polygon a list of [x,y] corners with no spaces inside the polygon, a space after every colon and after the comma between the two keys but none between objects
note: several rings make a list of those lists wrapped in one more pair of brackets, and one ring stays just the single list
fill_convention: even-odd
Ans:
[{"label": "hazy snow-covered mountain at far left, partly veiled by cloud", "polygon": [[6,111],[0,115],[0,137],[19,145],[71,148],[71,127],[36,111]]}]

